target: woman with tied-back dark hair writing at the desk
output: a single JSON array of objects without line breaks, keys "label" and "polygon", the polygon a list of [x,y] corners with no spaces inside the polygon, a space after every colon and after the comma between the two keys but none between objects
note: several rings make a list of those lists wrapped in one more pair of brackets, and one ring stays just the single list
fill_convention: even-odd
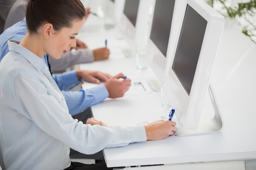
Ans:
[{"label": "woman with tied-back dark hair writing at the desk", "polygon": [[111,169],[105,163],[71,162],[70,148],[92,154],[176,132],[173,121],[108,127],[94,118],[86,124],[73,119],[42,58],[49,53],[58,59],[76,46],[75,37],[85,22],[83,4],[29,0],[26,19],[25,37],[21,42],[9,40],[10,51],[0,62],[0,148],[7,170]]}]

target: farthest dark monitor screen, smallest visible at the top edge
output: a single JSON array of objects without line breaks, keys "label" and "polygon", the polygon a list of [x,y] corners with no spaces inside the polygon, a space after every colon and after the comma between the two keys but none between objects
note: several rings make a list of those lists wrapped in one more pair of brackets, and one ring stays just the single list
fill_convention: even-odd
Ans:
[{"label": "farthest dark monitor screen, smallest visible at the top edge", "polygon": [[139,0],[126,0],[124,14],[130,20],[133,26],[135,26],[136,23],[138,8]]}]

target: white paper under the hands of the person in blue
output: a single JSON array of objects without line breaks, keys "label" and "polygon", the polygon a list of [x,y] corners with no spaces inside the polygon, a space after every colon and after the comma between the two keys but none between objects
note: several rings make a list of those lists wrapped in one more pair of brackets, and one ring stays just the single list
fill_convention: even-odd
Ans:
[{"label": "white paper under the hands of the person in blue", "polygon": [[[83,89],[88,89],[97,86],[98,84],[85,82],[82,84]],[[129,94],[145,94],[151,93],[152,90],[148,83],[144,80],[142,81],[132,81],[129,90],[125,93],[125,95]]]}]

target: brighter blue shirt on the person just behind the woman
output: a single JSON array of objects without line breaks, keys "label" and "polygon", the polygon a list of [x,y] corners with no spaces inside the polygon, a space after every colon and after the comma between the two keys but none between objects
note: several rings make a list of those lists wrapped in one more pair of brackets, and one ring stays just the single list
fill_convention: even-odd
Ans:
[{"label": "brighter blue shirt on the person just behind the woman", "polygon": [[[17,22],[0,35],[0,62],[4,55],[9,52],[7,40],[14,39],[21,41],[26,32],[27,24],[24,18],[24,20]],[[46,55],[43,57],[43,60],[47,65]],[[102,102],[109,95],[108,90],[103,84],[88,90],[81,89],[75,92],[67,91],[80,83],[76,77],[75,71],[53,74],[52,76],[66,99],[67,107],[71,115],[78,114],[86,108]]]}]

